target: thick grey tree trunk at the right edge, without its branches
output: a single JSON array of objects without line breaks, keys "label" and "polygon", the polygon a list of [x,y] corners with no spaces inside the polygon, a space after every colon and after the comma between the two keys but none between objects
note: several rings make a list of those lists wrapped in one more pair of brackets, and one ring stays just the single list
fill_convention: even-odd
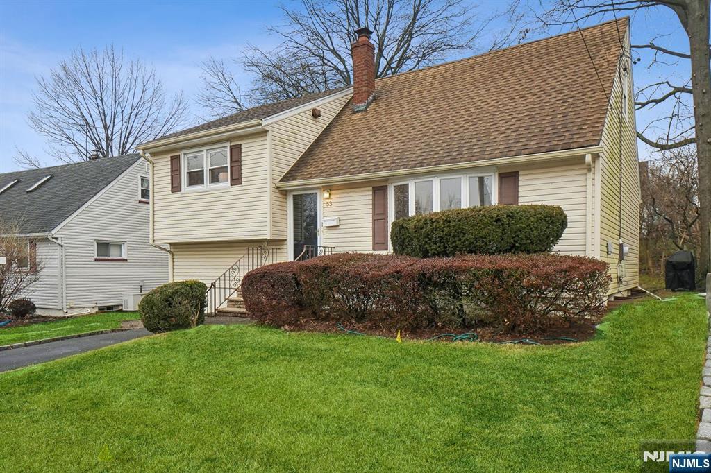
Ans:
[{"label": "thick grey tree trunk at the right edge, without its branches", "polygon": [[685,9],[672,7],[689,36],[691,88],[694,99],[696,156],[699,166],[701,248],[698,273],[701,281],[711,268],[711,65],[709,63],[709,0],[688,0]]}]

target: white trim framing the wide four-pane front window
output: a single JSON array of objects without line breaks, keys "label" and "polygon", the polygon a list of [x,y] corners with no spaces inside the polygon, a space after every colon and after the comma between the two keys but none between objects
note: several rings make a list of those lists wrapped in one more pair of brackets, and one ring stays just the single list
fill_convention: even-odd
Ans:
[{"label": "white trim framing the wide four-pane front window", "polygon": [[389,222],[395,222],[395,190],[396,185],[407,184],[408,185],[408,197],[410,198],[410,217],[415,215],[415,183],[422,181],[432,180],[433,190],[432,195],[434,202],[432,202],[432,207],[434,210],[432,212],[440,211],[440,184],[439,181],[442,179],[460,178],[461,179],[461,208],[469,208],[469,178],[481,178],[481,177],[491,177],[491,205],[498,204],[498,171],[497,170],[487,170],[487,171],[472,171],[469,173],[451,173],[451,174],[437,174],[437,175],[426,175],[417,176],[416,178],[403,179],[403,180],[392,180],[387,185],[387,218]]}]

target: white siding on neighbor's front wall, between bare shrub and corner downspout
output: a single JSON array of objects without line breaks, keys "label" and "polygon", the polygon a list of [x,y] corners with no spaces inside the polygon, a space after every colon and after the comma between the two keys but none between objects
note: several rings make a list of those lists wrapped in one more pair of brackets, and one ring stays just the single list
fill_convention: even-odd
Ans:
[{"label": "white siding on neighbor's front wall, between bare shrub and corner downspout", "polygon": [[41,239],[36,241],[37,264],[42,266],[39,281],[26,290],[21,297],[29,298],[37,306],[38,313],[43,309],[62,308],[62,274],[60,271],[59,246]]}]

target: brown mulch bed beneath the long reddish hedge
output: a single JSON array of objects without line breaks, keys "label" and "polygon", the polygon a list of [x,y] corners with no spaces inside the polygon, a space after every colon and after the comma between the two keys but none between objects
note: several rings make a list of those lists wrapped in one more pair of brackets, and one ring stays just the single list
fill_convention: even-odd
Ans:
[{"label": "brown mulch bed beneath the long reddish hedge", "polygon": [[[427,340],[437,335],[444,333],[453,333],[456,335],[463,334],[465,332],[474,332],[479,337],[480,342],[510,342],[512,340],[529,339],[539,344],[560,344],[560,343],[570,343],[568,340],[561,339],[546,339],[546,338],[556,338],[556,337],[566,337],[573,338],[579,342],[584,342],[591,339],[597,329],[595,325],[600,322],[599,319],[587,319],[581,323],[574,324],[562,324],[558,327],[552,327],[545,331],[538,332],[526,332],[526,333],[507,333],[503,334],[501,330],[492,327],[479,327],[471,328],[469,330],[464,330],[461,328],[451,329],[447,327],[433,327],[420,330],[400,330],[400,337],[406,340]],[[397,336],[397,329],[378,327],[377,325],[368,323],[344,323],[343,328],[347,330],[355,330],[355,332],[361,332],[365,335],[373,335],[376,337],[387,337],[395,338]],[[341,330],[336,322],[323,322],[319,320],[300,320],[298,323],[293,325],[287,325],[282,327],[282,329],[289,332],[321,332],[321,333],[340,333],[347,336],[358,336],[355,334],[349,334]],[[440,342],[451,342],[451,337],[443,337],[438,339]]]}]

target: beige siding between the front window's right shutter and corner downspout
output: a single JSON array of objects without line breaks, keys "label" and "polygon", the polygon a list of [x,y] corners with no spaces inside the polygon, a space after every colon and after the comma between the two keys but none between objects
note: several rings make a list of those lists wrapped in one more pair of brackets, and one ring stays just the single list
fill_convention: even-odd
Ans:
[{"label": "beige siding between the front window's right shutter and corner downspout", "polygon": [[[585,256],[587,235],[587,167],[584,158],[565,164],[519,167],[518,203],[560,205],[568,226],[553,251]],[[501,168],[500,172],[514,170]]]}]

